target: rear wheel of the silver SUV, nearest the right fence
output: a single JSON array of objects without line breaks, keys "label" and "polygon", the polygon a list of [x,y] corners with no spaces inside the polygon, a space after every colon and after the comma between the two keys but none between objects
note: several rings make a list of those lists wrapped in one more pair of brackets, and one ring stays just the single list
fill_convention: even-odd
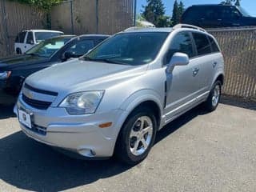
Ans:
[{"label": "rear wheel of the silver SUV, nearest the right fence", "polygon": [[210,90],[210,94],[204,103],[204,108],[209,112],[216,110],[222,94],[222,82],[214,82],[214,86]]}]

